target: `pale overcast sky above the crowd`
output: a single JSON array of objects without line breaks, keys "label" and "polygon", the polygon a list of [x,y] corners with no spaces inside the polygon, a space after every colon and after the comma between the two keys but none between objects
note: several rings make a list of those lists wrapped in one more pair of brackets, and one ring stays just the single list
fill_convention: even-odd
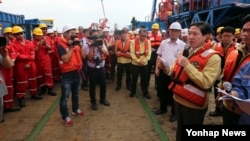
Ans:
[{"label": "pale overcast sky above the crowd", "polygon": [[[133,16],[139,21],[149,19],[152,0],[103,0],[109,26],[122,28]],[[24,15],[25,19],[54,19],[55,28],[72,24],[89,27],[104,18],[101,0],[2,0],[0,10]]]}]

